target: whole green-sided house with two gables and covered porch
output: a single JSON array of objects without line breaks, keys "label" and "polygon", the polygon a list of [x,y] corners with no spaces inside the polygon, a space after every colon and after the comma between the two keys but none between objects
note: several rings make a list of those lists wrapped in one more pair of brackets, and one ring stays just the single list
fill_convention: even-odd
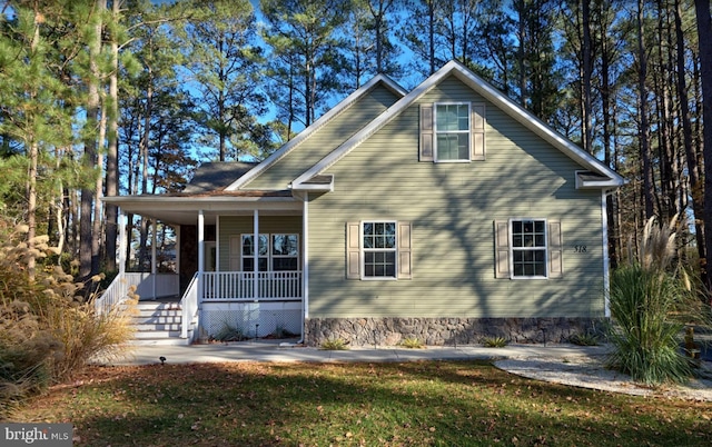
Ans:
[{"label": "whole green-sided house with two gables and covered porch", "polygon": [[117,284],[180,294],[185,340],[560,341],[609,317],[624,179],[458,62],[409,92],[378,76],[263,162],[196,177],[106,199],[177,229],[178,275]]}]

